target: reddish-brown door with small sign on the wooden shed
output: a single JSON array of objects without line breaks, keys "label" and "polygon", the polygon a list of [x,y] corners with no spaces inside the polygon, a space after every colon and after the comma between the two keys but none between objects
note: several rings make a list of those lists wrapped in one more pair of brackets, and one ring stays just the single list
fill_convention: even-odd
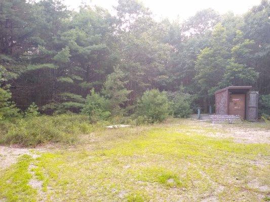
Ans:
[{"label": "reddish-brown door with small sign on the wooden shed", "polygon": [[229,95],[229,115],[239,115],[245,119],[246,94]]}]

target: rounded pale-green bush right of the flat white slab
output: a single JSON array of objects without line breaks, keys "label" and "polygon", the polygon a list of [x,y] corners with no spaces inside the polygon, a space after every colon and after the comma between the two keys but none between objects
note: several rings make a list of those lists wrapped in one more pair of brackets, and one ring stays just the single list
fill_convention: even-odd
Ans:
[{"label": "rounded pale-green bush right of the flat white slab", "polygon": [[136,113],[143,119],[147,118],[150,123],[164,121],[169,115],[166,93],[157,89],[145,91],[138,102]]}]

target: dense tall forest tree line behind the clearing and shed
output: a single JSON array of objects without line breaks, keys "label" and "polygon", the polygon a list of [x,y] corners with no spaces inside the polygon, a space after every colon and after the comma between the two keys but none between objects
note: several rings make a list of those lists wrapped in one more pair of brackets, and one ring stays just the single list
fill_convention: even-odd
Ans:
[{"label": "dense tall forest tree line behind the clearing and shed", "polygon": [[69,11],[58,0],[2,0],[0,99],[10,109],[35,103],[47,114],[80,112],[98,99],[108,109],[96,113],[108,116],[132,113],[153,88],[205,109],[229,85],[269,94],[269,5],[158,22],[136,0],[119,0],[115,16],[86,5]]}]

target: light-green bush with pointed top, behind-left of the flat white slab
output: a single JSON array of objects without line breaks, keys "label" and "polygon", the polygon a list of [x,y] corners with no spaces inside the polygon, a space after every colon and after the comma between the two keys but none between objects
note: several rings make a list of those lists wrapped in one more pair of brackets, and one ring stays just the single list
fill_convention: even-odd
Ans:
[{"label": "light-green bush with pointed top, behind-left of the flat white slab", "polygon": [[92,88],[91,94],[86,97],[86,104],[82,113],[88,115],[92,122],[105,120],[110,116],[109,100],[96,93]]}]

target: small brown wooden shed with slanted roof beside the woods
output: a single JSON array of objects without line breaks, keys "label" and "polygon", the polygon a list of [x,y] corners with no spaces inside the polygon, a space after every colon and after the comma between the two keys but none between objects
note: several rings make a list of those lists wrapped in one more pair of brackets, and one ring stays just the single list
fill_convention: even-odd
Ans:
[{"label": "small brown wooden shed with slanted roof beside the woods", "polygon": [[257,91],[252,86],[228,86],[215,92],[216,115],[239,115],[249,121],[257,120]]}]

